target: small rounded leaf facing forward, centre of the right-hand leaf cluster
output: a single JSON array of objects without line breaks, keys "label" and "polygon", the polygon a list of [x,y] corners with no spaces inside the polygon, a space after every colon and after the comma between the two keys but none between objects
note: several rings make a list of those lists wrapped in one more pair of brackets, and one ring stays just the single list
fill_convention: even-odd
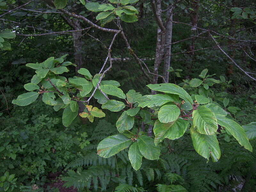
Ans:
[{"label": "small rounded leaf facing forward, centre of the right-hand leaf cluster", "polygon": [[176,105],[164,105],[158,112],[161,123],[169,123],[179,118],[180,109]]}]

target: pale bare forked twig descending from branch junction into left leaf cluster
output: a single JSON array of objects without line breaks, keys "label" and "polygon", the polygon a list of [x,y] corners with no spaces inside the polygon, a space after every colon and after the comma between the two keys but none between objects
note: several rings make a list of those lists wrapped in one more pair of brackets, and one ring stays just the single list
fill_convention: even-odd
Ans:
[{"label": "pale bare forked twig descending from branch junction into left leaf cluster", "polygon": [[[121,31],[119,31],[119,32],[121,32]],[[118,33],[119,33],[119,32],[118,32]],[[107,61],[108,61],[108,58],[109,58],[110,66],[109,66],[105,71],[103,71],[102,75],[100,76],[99,82],[97,83],[97,86],[95,87],[95,89],[94,89],[93,92],[92,92],[92,95],[89,97],[88,100],[86,100],[87,103],[89,103],[89,101],[92,99],[93,95],[95,94],[96,90],[99,88],[100,82],[101,82],[103,76],[105,75],[105,73],[107,73],[108,70],[112,68],[112,60],[111,60],[111,54],[110,54],[110,52],[111,52],[111,47],[112,47],[112,45],[113,45],[113,43],[114,43],[114,41],[115,41],[116,36],[118,35],[118,33],[116,33],[116,34],[114,35],[114,37],[113,37],[113,39],[112,39],[112,41],[111,41],[111,43],[110,43],[110,45],[109,45],[109,47],[108,47],[108,56],[107,56],[107,58],[105,59],[105,62],[104,62],[104,64],[102,65],[99,74],[100,74],[101,71],[104,69],[104,67],[105,67],[105,65],[106,65],[106,63],[107,63]],[[107,96],[106,94],[103,94],[103,95],[108,99],[108,96]],[[109,99],[108,99],[108,100],[109,100]]]}]

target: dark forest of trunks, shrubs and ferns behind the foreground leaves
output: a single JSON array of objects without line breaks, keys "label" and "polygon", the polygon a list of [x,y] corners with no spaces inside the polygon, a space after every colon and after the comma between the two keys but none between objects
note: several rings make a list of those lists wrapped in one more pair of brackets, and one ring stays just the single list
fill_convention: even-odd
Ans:
[{"label": "dark forest of trunks, shrubs and ferns behind the foreground leaves", "polygon": [[[0,190],[59,191],[49,183],[62,180],[78,191],[256,191],[256,3],[90,2],[0,0]],[[34,76],[26,64],[50,57],[65,59],[67,78],[81,76],[81,68],[104,71],[103,80],[119,82],[124,93],[156,94],[146,85],[169,82],[192,98],[203,95],[243,125],[254,150],[220,129],[216,163],[196,153],[188,131],[164,139],[160,159],[143,160],[136,171],[128,150],[102,158],[97,146],[118,133],[121,112],[102,108],[104,118],[77,116],[63,126],[63,110],[44,99],[12,104]],[[90,104],[101,108],[104,100],[98,91]],[[134,126],[151,137],[154,110],[144,109]]]}]

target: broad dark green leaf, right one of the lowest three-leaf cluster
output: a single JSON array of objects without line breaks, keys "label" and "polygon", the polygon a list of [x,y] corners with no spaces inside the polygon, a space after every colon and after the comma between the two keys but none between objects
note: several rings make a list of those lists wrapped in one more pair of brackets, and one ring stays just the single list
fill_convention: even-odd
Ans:
[{"label": "broad dark green leaf, right one of the lowest three-leaf cluster", "polygon": [[141,135],[137,139],[140,153],[149,160],[159,159],[160,147],[156,146],[154,140],[146,135]]}]

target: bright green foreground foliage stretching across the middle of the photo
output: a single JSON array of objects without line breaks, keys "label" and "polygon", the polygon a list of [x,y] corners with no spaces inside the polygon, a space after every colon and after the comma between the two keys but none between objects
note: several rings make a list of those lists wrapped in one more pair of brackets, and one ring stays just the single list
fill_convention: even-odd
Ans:
[{"label": "bright green foreground foliage stretching across the middle of the photo", "polygon": [[[84,111],[79,113],[79,116],[88,118],[90,122],[94,121],[94,117],[105,117],[101,109],[90,105],[92,97],[102,104],[102,109],[123,111],[116,121],[119,134],[100,141],[97,147],[99,156],[108,158],[129,148],[131,165],[133,169],[139,170],[143,157],[148,160],[159,159],[160,143],[165,138],[176,140],[187,131],[191,135],[195,151],[206,158],[207,162],[210,157],[213,162],[217,162],[221,155],[217,134],[221,130],[232,135],[241,146],[252,152],[244,129],[207,97],[209,83],[219,81],[207,78],[207,70],[202,71],[200,75],[203,80],[192,79],[189,82],[191,87],[203,84],[204,90],[200,91],[199,88],[195,95],[191,96],[178,85],[165,83],[148,84],[149,89],[159,93],[142,96],[134,90],[124,94],[118,82],[102,80],[107,70],[103,73],[101,70],[99,74],[92,76],[87,69],[81,68],[78,73],[84,77],[74,76],[67,79],[60,76],[69,71],[67,66],[74,65],[68,61],[64,62],[65,56],[57,59],[51,57],[42,63],[28,63],[27,67],[36,70],[31,83],[24,85],[29,92],[21,94],[12,103],[26,106],[42,95],[43,102],[52,105],[56,111],[64,108],[62,123],[66,127],[78,115],[79,102],[84,105]],[[146,108],[152,108],[154,112],[150,113]],[[135,127],[136,120],[154,124],[154,137],[146,135],[145,130],[140,127]]]}]

